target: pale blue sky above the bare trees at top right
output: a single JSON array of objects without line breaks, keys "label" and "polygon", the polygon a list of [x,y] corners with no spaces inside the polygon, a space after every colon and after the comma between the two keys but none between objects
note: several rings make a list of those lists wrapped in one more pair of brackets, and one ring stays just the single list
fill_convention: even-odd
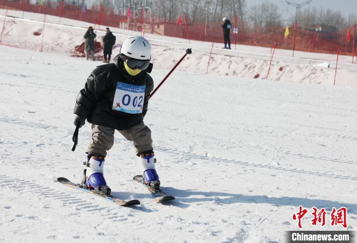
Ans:
[{"label": "pale blue sky above the bare trees at top right", "polygon": [[[301,4],[306,2],[306,0],[289,0],[290,2]],[[246,0],[247,7],[254,4],[260,4],[263,0]],[[280,13],[283,19],[289,19],[295,17],[295,7],[289,5],[287,12],[287,3],[285,0],[270,0],[269,2],[274,3],[279,6]],[[310,8],[320,9],[320,7],[330,8],[333,10],[340,10],[342,15],[347,18],[349,14],[354,14],[357,16],[357,0],[312,0],[310,3]],[[308,8],[308,5],[303,8]]]}]

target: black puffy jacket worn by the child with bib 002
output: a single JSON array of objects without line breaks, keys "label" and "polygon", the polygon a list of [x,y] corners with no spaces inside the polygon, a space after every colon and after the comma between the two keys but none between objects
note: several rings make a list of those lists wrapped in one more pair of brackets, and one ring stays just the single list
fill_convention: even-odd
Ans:
[{"label": "black puffy jacket worn by the child with bib 002", "polygon": [[[142,122],[147,112],[150,93],[154,89],[154,82],[146,71],[134,77],[127,74],[118,56],[113,61],[114,63],[98,66],[92,71],[84,89],[78,94],[73,113],[87,118],[89,123],[95,125],[126,130]],[[129,114],[113,110],[118,82],[145,86],[142,113]]]}]

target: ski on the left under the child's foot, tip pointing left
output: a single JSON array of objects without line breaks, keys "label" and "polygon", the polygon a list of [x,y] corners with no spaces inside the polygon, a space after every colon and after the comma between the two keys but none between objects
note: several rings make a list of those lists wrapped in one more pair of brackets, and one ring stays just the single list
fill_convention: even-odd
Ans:
[{"label": "ski on the left under the child's foot, tip pointing left", "polygon": [[64,185],[67,185],[67,186],[70,186],[72,188],[81,190],[83,192],[98,195],[100,197],[103,197],[103,198],[105,198],[105,199],[107,199],[109,201],[112,201],[113,203],[116,203],[116,204],[118,204],[120,206],[123,206],[123,207],[130,207],[130,206],[134,206],[134,205],[139,205],[140,204],[140,201],[138,201],[138,200],[124,201],[124,200],[121,200],[121,199],[119,199],[117,197],[114,197],[112,195],[105,195],[104,193],[101,193],[100,191],[86,189],[86,188],[84,188],[83,185],[75,184],[75,183],[71,182],[70,180],[68,180],[66,178],[63,178],[63,177],[57,178],[57,181],[62,183],[62,184],[64,184]]}]

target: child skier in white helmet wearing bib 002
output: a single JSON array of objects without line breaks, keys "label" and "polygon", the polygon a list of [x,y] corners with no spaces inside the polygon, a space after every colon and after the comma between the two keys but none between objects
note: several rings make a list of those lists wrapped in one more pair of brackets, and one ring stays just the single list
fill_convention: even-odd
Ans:
[{"label": "child skier in white helmet wearing bib 002", "polygon": [[86,188],[110,194],[103,166],[107,151],[114,144],[115,130],[133,141],[145,183],[154,188],[160,186],[151,131],[143,122],[154,89],[148,74],[152,69],[150,59],[151,46],[145,38],[125,39],[114,63],[94,69],[76,99],[74,124],[81,127],[87,119],[93,130],[82,181]]}]

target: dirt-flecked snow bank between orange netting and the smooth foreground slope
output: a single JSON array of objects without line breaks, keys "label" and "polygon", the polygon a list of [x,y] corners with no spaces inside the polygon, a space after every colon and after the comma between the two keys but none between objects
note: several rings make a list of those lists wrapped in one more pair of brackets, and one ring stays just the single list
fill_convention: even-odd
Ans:
[{"label": "dirt-flecked snow bank between orange netting and the smooth foreground slope", "polygon": [[[5,10],[0,10],[0,15],[5,15]],[[43,51],[71,55],[74,47],[81,45],[84,41],[83,35],[91,23],[73,19],[61,19],[58,16],[46,16],[46,24],[43,14],[25,12],[22,18],[21,11],[8,11],[2,42],[6,45],[17,46],[32,50],[40,50],[43,40]],[[0,24],[4,17],[0,16]],[[30,21],[33,20],[33,21]],[[70,26],[69,26],[70,25]],[[2,25],[0,25],[2,26]],[[44,26],[44,29],[43,29]],[[93,25],[94,26],[94,25]],[[105,35],[105,26],[94,26],[97,33],[97,41]],[[140,32],[111,28],[115,33],[117,41],[114,53],[118,53],[122,41],[132,35],[141,35]],[[41,35],[34,35],[34,32]],[[156,57],[152,61],[156,68],[170,69],[174,65],[173,60],[180,59],[188,47],[193,48],[193,53],[188,60],[179,66],[179,70],[193,73],[212,73],[236,77],[256,77],[266,79],[271,58],[271,48],[232,45],[232,50],[225,50],[222,43],[210,43],[203,41],[188,41],[181,38],[173,38],[154,34],[144,34],[152,44],[152,55]],[[282,33],[283,37],[283,33]],[[210,55],[211,46],[212,55]],[[103,57],[98,53],[97,57]],[[172,60],[172,61],[171,61]],[[357,88],[357,65],[351,64],[350,56],[340,56],[336,85]],[[210,62],[209,67],[208,62]],[[331,86],[335,80],[336,55],[322,53],[292,51],[276,49],[270,68],[268,79],[304,83],[322,84]]]}]

